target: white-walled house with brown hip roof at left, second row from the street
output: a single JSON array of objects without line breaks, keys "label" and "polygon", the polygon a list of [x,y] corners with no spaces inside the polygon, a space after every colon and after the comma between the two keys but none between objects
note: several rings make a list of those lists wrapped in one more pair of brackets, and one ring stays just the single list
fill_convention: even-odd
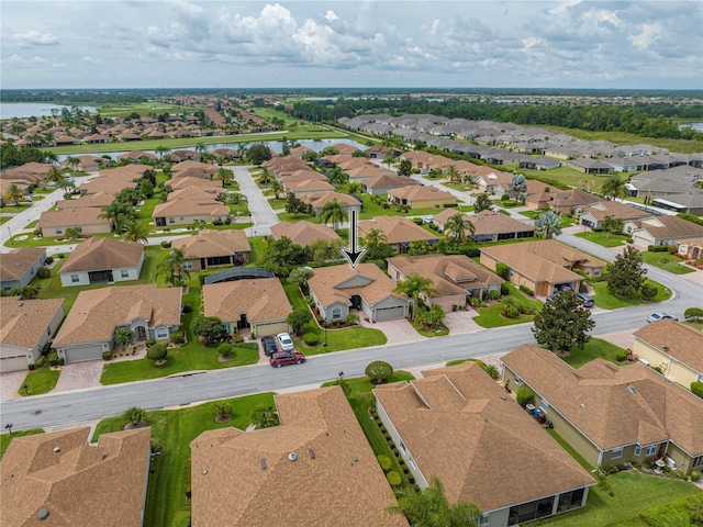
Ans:
[{"label": "white-walled house with brown hip roof at left, second row from the street", "polygon": [[112,238],[88,238],[66,258],[58,276],[62,285],[88,285],[138,280],[144,245]]}]

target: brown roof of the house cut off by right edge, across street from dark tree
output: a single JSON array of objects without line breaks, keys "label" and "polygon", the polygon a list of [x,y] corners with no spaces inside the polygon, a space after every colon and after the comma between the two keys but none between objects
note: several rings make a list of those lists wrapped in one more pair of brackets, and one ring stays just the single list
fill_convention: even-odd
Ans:
[{"label": "brown roof of the house cut off by right edge, across street from dark tree", "polygon": [[674,359],[703,373],[703,333],[665,318],[647,324],[634,334],[635,338],[663,351]]}]

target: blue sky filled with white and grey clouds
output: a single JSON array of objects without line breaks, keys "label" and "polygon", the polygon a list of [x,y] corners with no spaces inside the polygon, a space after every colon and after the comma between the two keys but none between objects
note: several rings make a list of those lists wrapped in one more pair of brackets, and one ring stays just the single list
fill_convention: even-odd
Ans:
[{"label": "blue sky filled with white and grey clouds", "polygon": [[703,2],[0,1],[1,87],[703,89]]}]

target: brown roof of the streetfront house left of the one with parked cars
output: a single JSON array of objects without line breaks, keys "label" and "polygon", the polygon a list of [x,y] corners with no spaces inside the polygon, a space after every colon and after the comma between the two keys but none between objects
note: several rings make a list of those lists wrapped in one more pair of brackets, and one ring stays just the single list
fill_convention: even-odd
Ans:
[{"label": "brown roof of the streetfront house left of the one with parked cars", "polygon": [[149,327],[180,324],[180,288],[120,285],[81,291],[54,346],[111,340],[114,328],[135,318]]}]

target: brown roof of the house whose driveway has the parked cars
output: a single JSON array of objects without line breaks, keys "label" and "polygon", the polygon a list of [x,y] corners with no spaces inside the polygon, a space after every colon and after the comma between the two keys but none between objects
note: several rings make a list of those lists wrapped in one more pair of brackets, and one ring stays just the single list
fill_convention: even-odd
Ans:
[{"label": "brown roof of the house whose driveway has the parked cars", "polygon": [[204,284],[202,305],[205,316],[223,322],[238,321],[242,313],[249,322],[284,319],[292,312],[278,278]]}]

